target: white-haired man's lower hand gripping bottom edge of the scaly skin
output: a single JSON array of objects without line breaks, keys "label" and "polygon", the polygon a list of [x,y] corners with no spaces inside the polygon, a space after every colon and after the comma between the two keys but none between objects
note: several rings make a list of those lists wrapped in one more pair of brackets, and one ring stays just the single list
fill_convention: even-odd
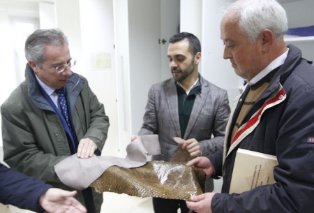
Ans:
[{"label": "white-haired man's lower hand gripping bottom edge of the scaly skin", "polygon": [[192,201],[186,201],[186,206],[197,213],[212,213],[211,200],[215,193],[203,193],[200,196],[193,196]]}]

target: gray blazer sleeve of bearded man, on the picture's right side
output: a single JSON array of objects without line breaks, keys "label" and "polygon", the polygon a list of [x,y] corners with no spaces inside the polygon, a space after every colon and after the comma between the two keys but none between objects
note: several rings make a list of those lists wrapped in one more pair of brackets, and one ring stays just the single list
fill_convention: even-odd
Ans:
[{"label": "gray blazer sleeve of bearded man, on the picture's right side", "polygon": [[202,156],[209,157],[211,154],[223,149],[223,141],[225,140],[225,127],[230,116],[230,105],[228,101],[227,91],[221,90],[218,95],[218,108],[214,115],[212,126],[213,138],[202,140],[200,147]]}]

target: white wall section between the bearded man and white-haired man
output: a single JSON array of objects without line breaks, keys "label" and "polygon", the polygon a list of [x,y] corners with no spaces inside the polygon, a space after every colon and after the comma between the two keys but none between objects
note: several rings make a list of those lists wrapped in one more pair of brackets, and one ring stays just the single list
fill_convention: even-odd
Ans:
[{"label": "white wall section between the bearded man and white-haired man", "polygon": [[181,31],[195,34],[202,43],[200,73],[210,82],[227,90],[231,105],[233,99],[239,95],[243,80],[234,73],[230,62],[223,59],[219,13],[230,1],[181,0],[180,22]]}]

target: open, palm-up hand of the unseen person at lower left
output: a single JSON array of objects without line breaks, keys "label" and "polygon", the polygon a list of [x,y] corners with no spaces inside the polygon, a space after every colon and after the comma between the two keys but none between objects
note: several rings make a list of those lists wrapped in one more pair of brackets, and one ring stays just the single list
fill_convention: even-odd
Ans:
[{"label": "open, palm-up hand of the unseen person at lower left", "polygon": [[39,199],[39,205],[51,213],[86,213],[86,208],[73,196],[77,191],[50,188]]}]

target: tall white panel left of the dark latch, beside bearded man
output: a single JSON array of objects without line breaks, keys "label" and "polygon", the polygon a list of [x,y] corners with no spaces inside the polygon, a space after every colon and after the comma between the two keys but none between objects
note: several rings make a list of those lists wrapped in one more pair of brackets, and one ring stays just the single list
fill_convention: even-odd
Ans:
[{"label": "tall white panel left of the dark latch, beside bearded man", "polygon": [[133,0],[128,3],[130,48],[130,105],[132,133],[142,126],[147,93],[160,75],[160,1]]}]

